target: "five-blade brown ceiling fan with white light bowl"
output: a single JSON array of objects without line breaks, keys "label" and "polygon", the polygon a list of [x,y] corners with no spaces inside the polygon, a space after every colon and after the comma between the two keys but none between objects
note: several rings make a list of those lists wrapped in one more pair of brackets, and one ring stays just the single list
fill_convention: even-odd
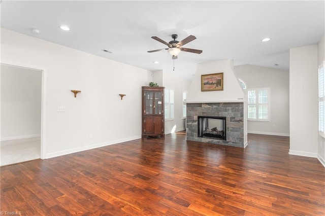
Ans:
[{"label": "five-blade brown ceiling fan with white light bowl", "polygon": [[165,45],[167,45],[169,48],[165,48],[165,49],[158,49],[158,50],[150,50],[148,51],[148,53],[153,53],[153,52],[157,52],[157,51],[161,51],[161,50],[167,50],[169,54],[172,55],[172,59],[177,59],[177,55],[181,52],[190,52],[190,53],[197,53],[200,54],[202,53],[202,50],[196,50],[196,49],[189,49],[189,48],[185,48],[183,47],[185,44],[197,39],[195,36],[193,35],[189,35],[187,38],[183,39],[182,41],[176,41],[178,35],[177,34],[172,34],[172,39],[174,39],[173,41],[170,41],[169,43],[167,43],[166,41],[161,40],[158,37],[152,36],[151,38],[159,41],[160,43],[163,43]]}]

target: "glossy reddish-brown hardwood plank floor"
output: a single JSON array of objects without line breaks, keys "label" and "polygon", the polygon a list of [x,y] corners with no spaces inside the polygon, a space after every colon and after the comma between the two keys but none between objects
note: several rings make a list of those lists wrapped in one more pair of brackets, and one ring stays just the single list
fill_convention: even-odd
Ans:
[{"label": "glossy reddish-brown hardwood plank floor", "polygon": [[22,215],[324,215],[325,168],[289,138],[246,149],[137,139],[1,167],[1,211]]}]

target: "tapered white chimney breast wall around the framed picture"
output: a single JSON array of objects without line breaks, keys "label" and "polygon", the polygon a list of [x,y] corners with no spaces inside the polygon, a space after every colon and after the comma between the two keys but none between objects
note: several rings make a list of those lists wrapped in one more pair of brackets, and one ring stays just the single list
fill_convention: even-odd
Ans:
[{"label": "tapered white chimney breast wall around the framed picture", "polygon": [[[201,75],[223,72],[223,91],[201,91]],[[239,99],[241,98],[241,99]],[[220,60],[198,64],[188,89],[187,102],[242,101],[244,93],[234,74],[233,60]]]}]

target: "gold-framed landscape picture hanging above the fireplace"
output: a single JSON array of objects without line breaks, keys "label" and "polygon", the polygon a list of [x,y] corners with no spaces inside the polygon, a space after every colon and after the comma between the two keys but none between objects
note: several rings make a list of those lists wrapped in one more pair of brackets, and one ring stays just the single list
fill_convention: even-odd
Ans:
[{"label": "gold-framed landscape picture hanging above the fireplace", "polygon": [[223,73],[201,75],[201,91],[223,91]]}]

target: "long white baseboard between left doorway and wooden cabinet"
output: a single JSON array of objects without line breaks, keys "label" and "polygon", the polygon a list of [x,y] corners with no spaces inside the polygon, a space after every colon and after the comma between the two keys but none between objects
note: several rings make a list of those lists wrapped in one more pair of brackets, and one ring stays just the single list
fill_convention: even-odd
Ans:
[{"label": "long white baseboard between left doorway and wooden cabinet", "polygon": [[124,139],[118,139],[118,140],[109,141],[109,142],[96,143],[94,145],[89,145],[89,146],[84,146],[84,147],[59,151],[59,152],[48,153],[48,154],[45,154],[44,159],[54,158],[54,157],[58,157],[58,156],[62,156],[62,155],[68,155],[68,154],[72,154],[72,153],[76,153],[76,152],[82,152],[82,151],[95,149],[95,148],[100,148],[100,147],[104,147],[104,146],[110,146],[110,145],[114,145],[114,144],[117,144],[117,143],[120,143],[120,142],[126,142],[126,141],[131,141],[131,140],[140,139],[140,138],[141,138],[141,136],[133,136],[133,137],[128,137],[128,138],[124,138]]}]

